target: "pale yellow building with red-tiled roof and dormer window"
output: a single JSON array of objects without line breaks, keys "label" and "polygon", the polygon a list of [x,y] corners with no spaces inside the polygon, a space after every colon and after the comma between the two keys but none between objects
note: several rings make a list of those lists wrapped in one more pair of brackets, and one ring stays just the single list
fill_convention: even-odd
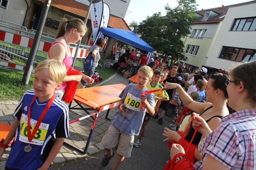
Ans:
[{"label": "pale yellow building with red-tiled roof and dormer window", "polygon": [[[216,39],[219,37],[219,32],[227,17],[228,10],[234,7],[248,6],[255,3],[256,1],[250,1],[195,11],[195,18],[197,20],[191,25],[191,33],[182,38],[185,46],[185,57],[182,59],[182,62],[190,67],[191,71],[198,70],[198,68],[201,68],[202,66],[207,66],[207,63],[212,63],[212,61],[209,60],[209,56],[212,51],[215,50],[213,49],[215,44],[219,43],[216,42]],[[253,11],[255,10],[252,10],[252,13]],[[246,12],[243,11],[242,13],[244,14]],[[239,15],[239,13],[237,13],[237,15]],[[213,69],[210,68],[210,70]]]}]

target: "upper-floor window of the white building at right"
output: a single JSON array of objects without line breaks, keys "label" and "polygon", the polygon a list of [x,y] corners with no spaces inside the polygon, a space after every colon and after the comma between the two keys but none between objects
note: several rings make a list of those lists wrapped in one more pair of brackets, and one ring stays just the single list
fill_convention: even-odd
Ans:
[{"label": "upper-floor window of the white building at right", "polygon": [[256,17],[235,19],[231,31],[256,31]]}]

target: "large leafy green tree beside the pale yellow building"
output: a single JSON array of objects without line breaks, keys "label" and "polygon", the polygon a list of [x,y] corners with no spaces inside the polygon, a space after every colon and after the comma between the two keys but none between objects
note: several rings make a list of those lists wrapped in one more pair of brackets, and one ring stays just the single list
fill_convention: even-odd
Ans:
[{"label": "large leafy green tree beside the pale yellow building", "polygon": [[148,16],[140,22],[138,34],[158,53],[180,59],[184,53],[181,37],[190,33],[196,6],[195,0],[178,0],[175,8],[167,4],[166,16],[161,17],[161,12]]}]

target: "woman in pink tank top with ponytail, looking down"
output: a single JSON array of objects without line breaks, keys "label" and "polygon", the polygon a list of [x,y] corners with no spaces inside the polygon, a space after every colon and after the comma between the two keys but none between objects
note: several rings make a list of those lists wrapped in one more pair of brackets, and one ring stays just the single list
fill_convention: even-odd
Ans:
[{"label": "woman in pink tank top with ponytail, looking down", "polygon": [[[87,28],[83,21],[80,19],[67,20],[64,18],[59,26],[58,34],[56,35],[56,41],[52,43],[49,51],[49,59],[56,59],[62,62],[66,66],[66,70],[72,65],[73,60],[71,57],[71,51],[69,43],[76,43],[81,40],[81,38],[86,34]],[[63,79],[62,86],[55,90],[56,95],[61,99],[64,94],[64,89],[66,88],[66,82],[77,81],[80,82],[81,79],[88,84],[93,83],[93,79],[84,74],[82,75],[66,75]]]}]

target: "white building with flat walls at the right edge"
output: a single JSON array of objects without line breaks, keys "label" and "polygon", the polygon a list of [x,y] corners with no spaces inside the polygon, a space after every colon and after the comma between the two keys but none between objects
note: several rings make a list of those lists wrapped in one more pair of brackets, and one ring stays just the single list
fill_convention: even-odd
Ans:
[{"label": "white building with flat walls at the right edge", "polygon": [[236,63],[256,60],[255,9],[256,3],[228,9],[206,66],[228,71]]}]

